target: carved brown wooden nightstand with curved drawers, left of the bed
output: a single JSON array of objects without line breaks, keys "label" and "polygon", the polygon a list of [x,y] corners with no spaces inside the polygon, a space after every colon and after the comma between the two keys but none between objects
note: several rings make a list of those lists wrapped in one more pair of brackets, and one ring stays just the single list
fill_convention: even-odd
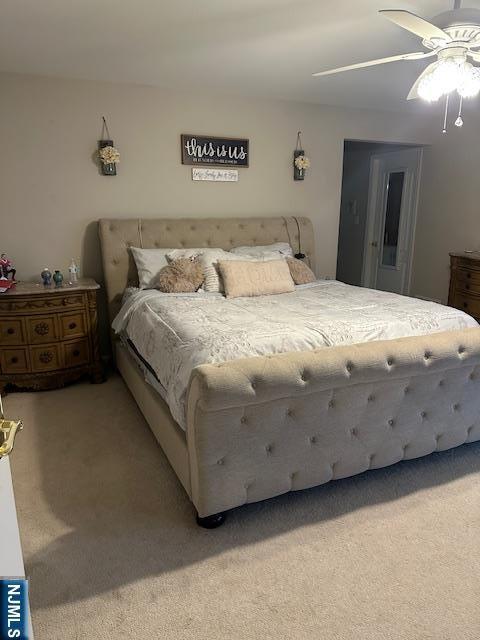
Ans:
[{"label": "carved brown wooden nightstand with curved drawers, left of the bed", "polygon": [[85,278],[59,288],[20,282],[0,294],[0,391],[56,389],[85,374],[103,382],[99,288]]}]

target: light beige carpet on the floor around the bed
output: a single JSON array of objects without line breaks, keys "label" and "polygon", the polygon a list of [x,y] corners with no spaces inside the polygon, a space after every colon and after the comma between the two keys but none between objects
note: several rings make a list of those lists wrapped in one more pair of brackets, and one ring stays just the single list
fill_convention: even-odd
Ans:
[{"label": "light beige carpet on the floor around the bed", "polygon": [[480,637],[480,445],[207,531],[118,376],[6,408],[36,640]]}]

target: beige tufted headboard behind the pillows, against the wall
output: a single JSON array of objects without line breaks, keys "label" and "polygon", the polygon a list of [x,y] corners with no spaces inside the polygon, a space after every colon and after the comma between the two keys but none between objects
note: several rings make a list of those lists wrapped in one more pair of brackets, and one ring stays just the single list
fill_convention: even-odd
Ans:
[{"label": "beige tufted headboard behind the pillows, against the wall", "polygon": [[[313,227],[309,218],[297,218],[302,251],[315,269]],[[129,247],[220,247],[289,242],[298,251],[295,218],[129,218],[99,223],[103,273],[110,322],[120,308],[123,291],[138,283]]]}]

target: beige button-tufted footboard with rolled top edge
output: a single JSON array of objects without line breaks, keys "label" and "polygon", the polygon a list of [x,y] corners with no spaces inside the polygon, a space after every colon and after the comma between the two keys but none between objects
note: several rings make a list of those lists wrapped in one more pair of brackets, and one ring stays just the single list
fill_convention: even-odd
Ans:
[{"label": "beige button-tufted footboard with rolled top edge", "polygon": [[246,502],[480,440],[480,328],[203,365],[192,500]]}]

